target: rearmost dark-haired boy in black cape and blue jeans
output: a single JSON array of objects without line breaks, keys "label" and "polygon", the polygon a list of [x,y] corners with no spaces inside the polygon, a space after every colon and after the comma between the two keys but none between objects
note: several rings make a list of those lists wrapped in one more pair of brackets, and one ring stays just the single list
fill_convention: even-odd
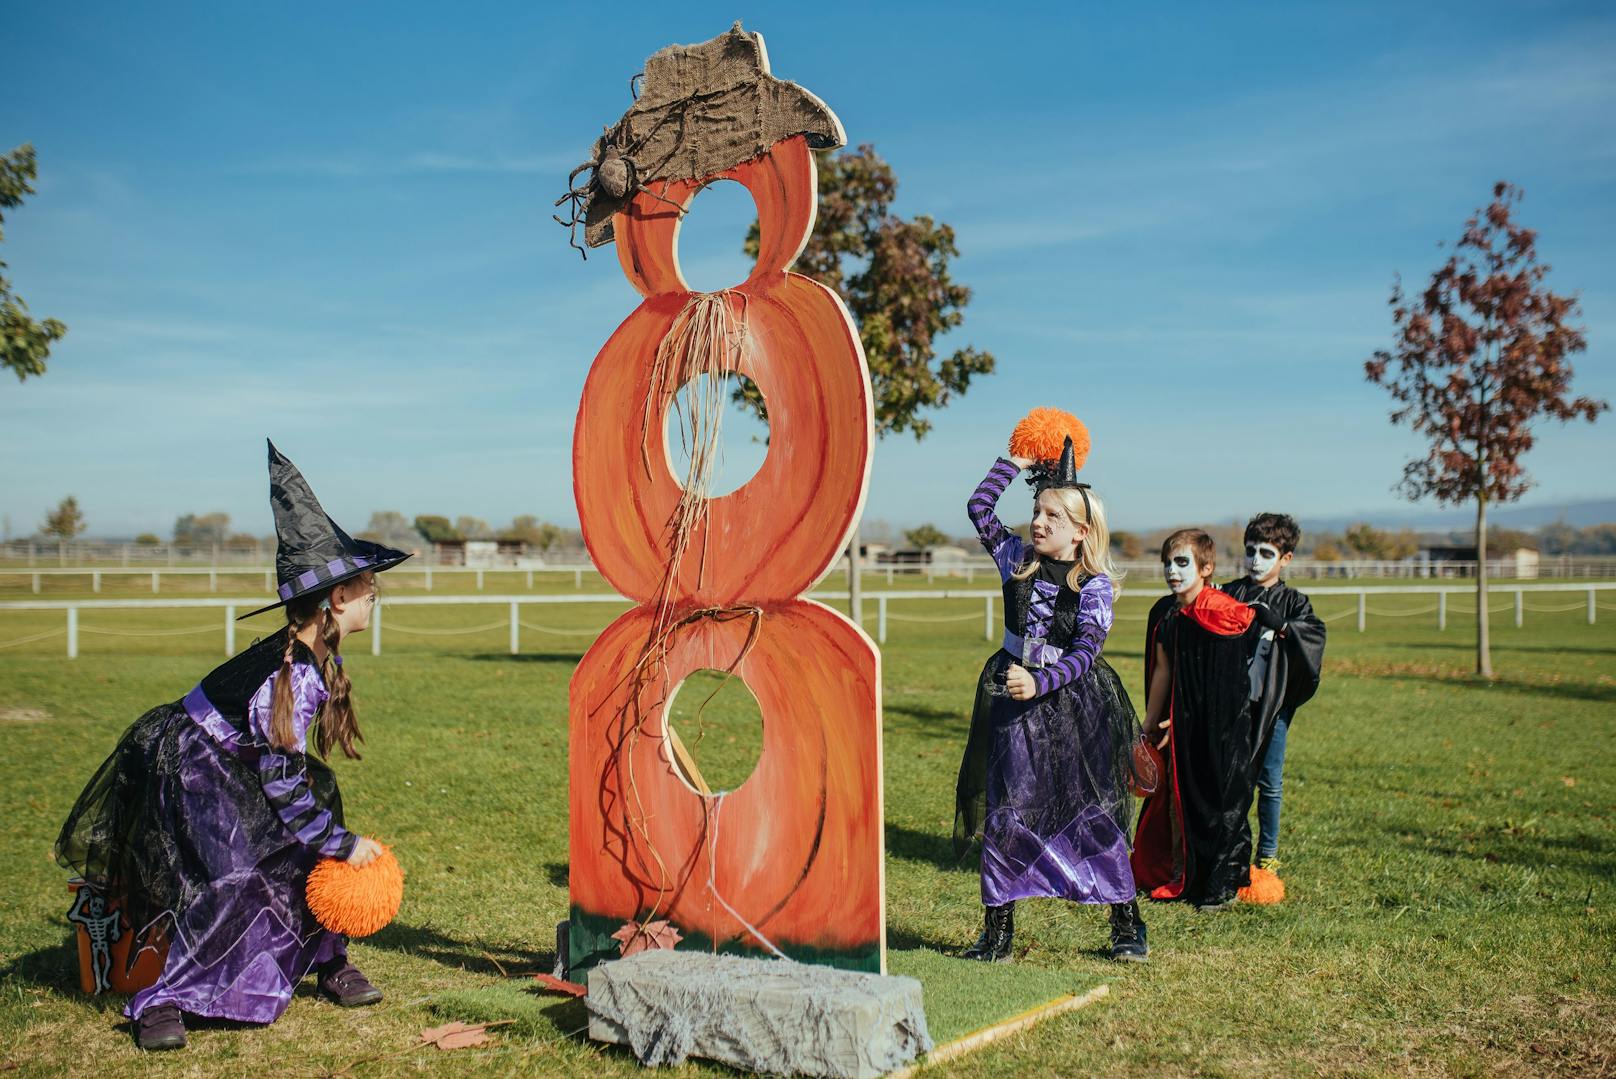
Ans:
[{"label": "rearmost dark-haired boy in black cape and blue jeans", "polygon": [[1280,580],[1301,540],[1286,514],[1257,514],[1246,525],[1246,577],[1223,590],[1252,606],[1260,636],[1251,659],[1257,709],[1257,866],[1278,869],[1280,798],[1291,717],[1319,690],[1325,627],[1307,596]]}]

